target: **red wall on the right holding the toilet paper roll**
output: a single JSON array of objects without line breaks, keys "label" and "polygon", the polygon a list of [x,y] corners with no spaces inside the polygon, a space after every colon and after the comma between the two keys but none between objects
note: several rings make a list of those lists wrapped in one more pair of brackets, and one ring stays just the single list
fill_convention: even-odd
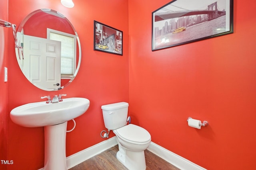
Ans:
[{"label": "red wall on the right holding the toilet paper roll", "polygon": [[128,2],[132,122],[206,169],[255,169],[255,0],[234,0],[233,34],[154,52],[151,14],[170,0]]}]

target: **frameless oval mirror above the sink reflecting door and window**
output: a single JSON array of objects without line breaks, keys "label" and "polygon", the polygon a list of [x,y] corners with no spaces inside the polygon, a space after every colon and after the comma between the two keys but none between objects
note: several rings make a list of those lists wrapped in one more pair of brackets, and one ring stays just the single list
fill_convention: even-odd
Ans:
[{"label": "frameless oval mirror above the sink reflecting door and window", "polygon": [[26,78],[36,87],[60,90],[75,78],[81,45],[70,21],[57,11],[30,13],[17,29],[16,58]]}]

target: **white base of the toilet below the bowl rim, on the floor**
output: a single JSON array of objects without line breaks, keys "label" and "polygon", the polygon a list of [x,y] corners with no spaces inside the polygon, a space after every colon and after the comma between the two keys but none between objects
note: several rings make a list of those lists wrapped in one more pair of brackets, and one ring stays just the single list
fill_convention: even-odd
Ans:
[{"label": "white base of the toilet below the bowl rim, on the floor", "polygon": [[119,151],[116,154],[116,158],[126,167],[128,170],[146,170],[146,161],[144,150],[140,152],[133,152],[130,150],[119,147]]}]

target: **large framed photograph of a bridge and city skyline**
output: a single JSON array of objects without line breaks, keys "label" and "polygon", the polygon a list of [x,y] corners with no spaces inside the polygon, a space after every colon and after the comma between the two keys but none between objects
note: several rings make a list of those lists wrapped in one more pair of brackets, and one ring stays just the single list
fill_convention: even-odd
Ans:
[{"label": "large framed photograph of a bridge and city skyline", "polygon": [[233,0],[173,0],[152,12],[152,51],[233,33]]}]

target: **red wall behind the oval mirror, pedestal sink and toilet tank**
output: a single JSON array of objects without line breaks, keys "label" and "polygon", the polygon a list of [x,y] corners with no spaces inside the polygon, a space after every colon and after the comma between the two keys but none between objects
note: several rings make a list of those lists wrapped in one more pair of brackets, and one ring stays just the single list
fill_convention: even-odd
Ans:
[{"label": "red wall behind the oval mirror, pedestal sink and toilet tank", "polygon": [[[59,11],[74,25],[82,46],[82,63],[77,77],[58,92],[47,92],[33,86],[23,76],[14,53],[14,41],[9,32],[9,106],[8,159],[14,164],[8,170],[35,170],[44,166],[44,128],[26,128],[14,124],[10,111],[29,102],[39,102],[41,96],[67,94],[90,100],[88,111],[76,118],[76,128],[67,133],[66,156],[100,143],[104,127],[101,106],[128,100],[128,2],[127,0],[75,0],[74,8],[66,8],[60,0],[9,0],[9,21],[17,25],[34,10],[51,8]],[[17,5],[18,4],[18,5]],[[93,50],[94,20],[124,31],[123,56]],[[68,122],[72,129],[73,122]],[[110,137],[113,137],[113,133]]]}]

